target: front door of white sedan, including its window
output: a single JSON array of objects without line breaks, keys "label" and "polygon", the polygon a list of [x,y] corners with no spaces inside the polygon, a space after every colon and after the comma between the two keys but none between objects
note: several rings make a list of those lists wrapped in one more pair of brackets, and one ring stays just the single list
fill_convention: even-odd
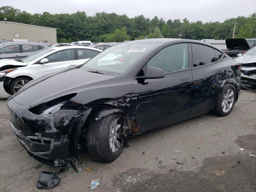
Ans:
[{"label": "front door of white sedan, including its window", "polygon": [[65,49],[46,56],[48,63],[38,64],[38,76],[76,66],[75,49]]}]

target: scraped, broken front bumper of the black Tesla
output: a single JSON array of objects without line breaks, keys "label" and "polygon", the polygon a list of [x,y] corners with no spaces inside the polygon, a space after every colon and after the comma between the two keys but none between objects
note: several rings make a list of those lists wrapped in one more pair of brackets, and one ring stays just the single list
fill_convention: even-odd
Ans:
[{"label": "scraped, broken front bumper of the black Tesla", "polygon": [[[8,100],[10,126],[22,146],[34,156],[53,160],[54,166],[65,164],[70,154],[72,128],[82,128],[90,109],[65,109],[54,114],[36,115],[30,106]],[[80,108],[81,109],[81,108]],[[22,116],[20,116],[22,114]]]}]

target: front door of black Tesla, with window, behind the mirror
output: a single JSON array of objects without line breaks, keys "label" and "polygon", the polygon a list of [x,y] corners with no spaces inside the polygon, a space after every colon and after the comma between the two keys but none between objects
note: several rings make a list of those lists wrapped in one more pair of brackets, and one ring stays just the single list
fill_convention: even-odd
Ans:
[{"label": "front door of black Tesla, with window, behind the mirror", "polygon": [[139,132],[165,126],[188,116],[192,88],[189,52],[191,49],[188,50],[186,43],[162,49],[142,70],[161,68],[165,77],[143,82],[134,80],[136,125]]}]

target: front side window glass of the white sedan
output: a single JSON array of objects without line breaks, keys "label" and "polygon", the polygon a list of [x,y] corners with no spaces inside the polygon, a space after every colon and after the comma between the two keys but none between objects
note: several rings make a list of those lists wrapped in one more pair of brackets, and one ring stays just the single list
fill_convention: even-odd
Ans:
[{"label": "front side window glass of the white sedan", "polygon": [[74,49],[62,50],[46,57],[49,63],[74,60]]}]

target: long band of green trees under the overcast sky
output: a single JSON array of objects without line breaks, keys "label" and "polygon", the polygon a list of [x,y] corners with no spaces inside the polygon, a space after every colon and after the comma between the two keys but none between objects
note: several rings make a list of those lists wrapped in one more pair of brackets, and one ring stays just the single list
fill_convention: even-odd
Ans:
[{"label": "long band of green trees under the overcast sky", "polygon": [[[237,22],[235,38],[254,38],[256,35],[256,13],[249,17],[238,16],[224,22],[190,22],[183,20],[163,20],[155,16],[144,15],[128,18],[126,14],[100,12],[87,16],[86,12],[73,14],[30,14],[11,6],[0,7],[0,20],[19,22],[57,28],[58,42],[91,40],[92,42],[123,42],[124,40],[148,38],[182,38],[186,39],[226,39],[232,38],[234,22]],[[152,30],[155,29],[155,30]],[[150,34],[150,30],[153,32]]]}]

